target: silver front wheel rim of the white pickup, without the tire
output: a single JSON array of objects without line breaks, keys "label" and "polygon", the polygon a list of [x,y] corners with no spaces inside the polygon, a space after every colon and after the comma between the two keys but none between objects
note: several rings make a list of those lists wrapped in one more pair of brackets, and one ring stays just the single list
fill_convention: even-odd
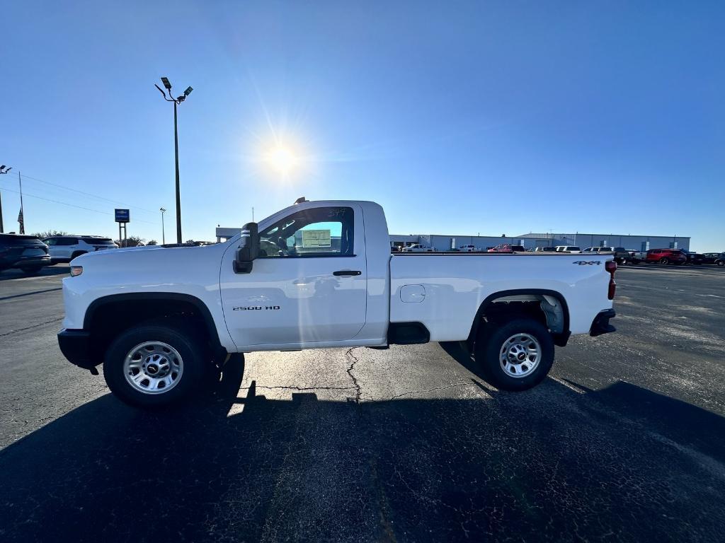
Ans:
[{"label": "silver front wheel rim of the white pickup, without the tire", "polygon": [[123,361],[126,381],[138,392],[163,394],[181,380],[183,361],[167,343],[147,341],[136,345]]}]

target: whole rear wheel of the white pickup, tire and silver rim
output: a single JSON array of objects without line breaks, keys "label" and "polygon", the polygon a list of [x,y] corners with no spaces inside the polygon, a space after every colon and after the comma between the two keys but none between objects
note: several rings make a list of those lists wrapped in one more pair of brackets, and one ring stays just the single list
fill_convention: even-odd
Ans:
[{"label": "whole rear wheel of the white pickup, tire and silver rim", "polygon": [[479,329],[476,365],[487,382],[500,390],[528,390],[542,382],[554,363],[549,330],[533,319],[515,319]]}]

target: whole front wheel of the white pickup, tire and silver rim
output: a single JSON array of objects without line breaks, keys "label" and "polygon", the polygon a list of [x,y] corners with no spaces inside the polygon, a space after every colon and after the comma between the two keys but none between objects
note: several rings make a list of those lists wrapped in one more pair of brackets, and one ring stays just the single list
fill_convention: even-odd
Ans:
[{"label": "whole front wheel of the white pickup, tire and silver rim", "polygon": [[109,346],[103,375],[109,389],[130,405],[177,402],[204,384],[210,366],[206,349],[191,329],[142,324],[121,333]]}]

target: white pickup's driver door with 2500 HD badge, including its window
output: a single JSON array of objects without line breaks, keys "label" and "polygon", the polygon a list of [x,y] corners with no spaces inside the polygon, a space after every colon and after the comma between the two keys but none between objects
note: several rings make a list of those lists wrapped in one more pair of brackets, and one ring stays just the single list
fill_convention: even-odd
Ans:
[{"label": "white pickup's driver door with 2500 HD badge, including its window", "polygon": [[225,253],[220,288],[239,348],[344,341],[363,328],[368,274],[359,206],[302,203],[263,225],[249,274],[234,272],[235,253]]}]

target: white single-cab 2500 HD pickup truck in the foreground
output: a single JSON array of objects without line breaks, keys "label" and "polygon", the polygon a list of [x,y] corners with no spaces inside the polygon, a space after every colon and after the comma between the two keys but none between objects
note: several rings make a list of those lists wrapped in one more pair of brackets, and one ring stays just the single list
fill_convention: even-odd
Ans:
[{"label": "white single-cab 2500 HD pickup truck in the foreground", "polygon": [[490,384],[526,390],[554,345],[614,331],[610,257],[391,255],[378,204],[298,202],[225,243],[75,258],[63,354],[152,406],[201,390],[231,353],[429,341],[464,342]]}]

